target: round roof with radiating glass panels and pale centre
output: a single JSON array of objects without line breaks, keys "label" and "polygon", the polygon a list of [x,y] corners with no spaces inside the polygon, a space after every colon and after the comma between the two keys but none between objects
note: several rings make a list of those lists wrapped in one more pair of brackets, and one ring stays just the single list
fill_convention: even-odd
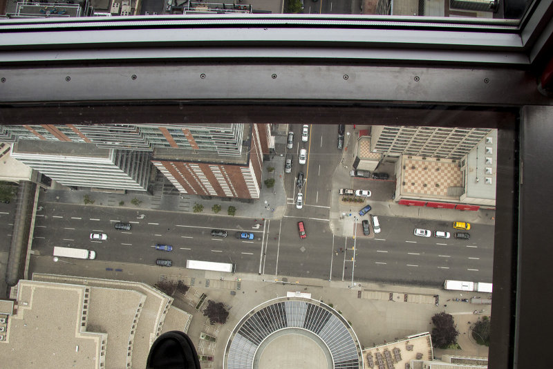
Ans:
[{"label": "round roof with radiating glass panels and pale centre", "polygon": [[229,337],[226,369],[363,368],[359,341],[336,310],[317,300],[279,298],[248,312]]}]

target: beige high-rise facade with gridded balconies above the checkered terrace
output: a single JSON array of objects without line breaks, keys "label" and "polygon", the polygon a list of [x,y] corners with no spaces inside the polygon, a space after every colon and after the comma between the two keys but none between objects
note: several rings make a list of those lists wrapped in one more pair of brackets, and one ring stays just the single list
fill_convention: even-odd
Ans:
[{"label": "beige high-rise facade with gridded balconies above the checkered terrace", "polygon": [[371,151],[395,162],[400,155],[459,160],[491,129],[424,126],[373,126]]}]

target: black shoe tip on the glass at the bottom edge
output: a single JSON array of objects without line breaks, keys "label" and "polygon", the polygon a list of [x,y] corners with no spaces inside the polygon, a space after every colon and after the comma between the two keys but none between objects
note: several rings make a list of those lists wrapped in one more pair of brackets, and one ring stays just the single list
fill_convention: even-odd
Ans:
[{"label": "black shoe tip on the glass at the bottom edge", "polygon": [[165,332],[150,348],[147,369],[200,369],[194,344],[184,332]]}]

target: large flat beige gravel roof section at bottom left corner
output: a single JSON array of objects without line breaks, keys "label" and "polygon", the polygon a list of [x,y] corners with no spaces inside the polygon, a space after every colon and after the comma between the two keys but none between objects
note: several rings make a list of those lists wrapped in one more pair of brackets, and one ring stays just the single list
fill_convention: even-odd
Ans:
[{"label": "large flat beige gravel roof section at bottom left corner", "polygon": [[105,335],[87,332],[86,287],[19,281],[0,357],[10,368],[100,368]]}]

